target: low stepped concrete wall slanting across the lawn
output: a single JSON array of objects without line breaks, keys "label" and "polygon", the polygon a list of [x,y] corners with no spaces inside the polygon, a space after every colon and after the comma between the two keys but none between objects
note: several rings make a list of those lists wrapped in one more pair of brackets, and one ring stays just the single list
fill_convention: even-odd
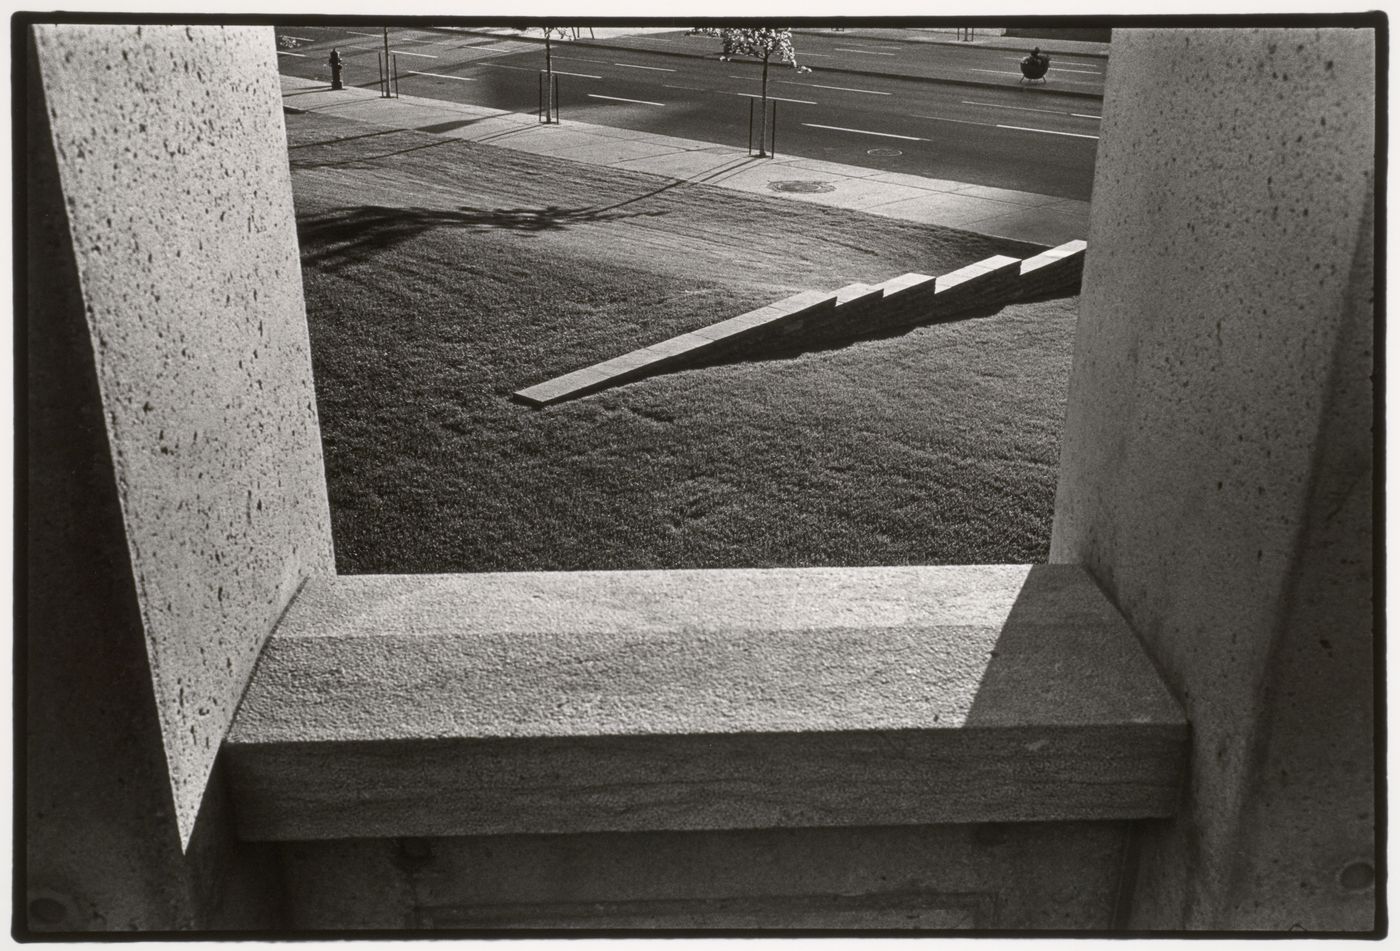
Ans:
[{"label": "low stepped concrete wall slanting across the lawn", "polygon": [[1025,261],[995,255],[938,277],[907,273],[879,284],[802,291],[526,387],[512,396],[531,406],[547,406],[658,373],[760,357],[769,347],[830,346],[1077,290],[1085,247],[1084,241],[1071,241]]}]

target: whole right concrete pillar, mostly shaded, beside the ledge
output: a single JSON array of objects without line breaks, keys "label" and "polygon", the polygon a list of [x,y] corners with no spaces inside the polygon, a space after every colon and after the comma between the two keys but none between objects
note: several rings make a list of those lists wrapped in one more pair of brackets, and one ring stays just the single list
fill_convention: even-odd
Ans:
[{"label": "whole right concrete pillar, mostly shaded, beside the ledge", "polygon": [[1371,29],[1114,31],[1051,560],[1193,730],[1138,927],[1369,929]]}]

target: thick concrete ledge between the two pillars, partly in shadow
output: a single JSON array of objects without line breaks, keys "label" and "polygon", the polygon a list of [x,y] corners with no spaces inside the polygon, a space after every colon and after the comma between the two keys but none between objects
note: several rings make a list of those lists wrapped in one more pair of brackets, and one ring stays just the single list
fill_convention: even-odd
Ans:
[{"label": "thick concrete ledge between the two pillars, partly in shadow", "polygon": [[249,839],[1168,815],[1184,719],[1072,566],[308,583],[228,735]]}]

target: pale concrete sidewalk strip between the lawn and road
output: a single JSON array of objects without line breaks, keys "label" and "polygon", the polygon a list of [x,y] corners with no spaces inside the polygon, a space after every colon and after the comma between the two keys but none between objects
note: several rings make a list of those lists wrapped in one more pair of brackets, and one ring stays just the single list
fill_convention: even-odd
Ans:
[{"label": "pale concrete sidewalk strip between the lawn and road", "polygon": [[332,91],[325,83],[291,76],[281,77],[281,88],[288,111],[428,132],[766,197],[853,209],[1047,247],[1086,238],[1089,231],[1088,202],[797,155],[756,158],[729,146],[568,119],[545,126],[533,115],[407,95],[384,99],[372,90]]}]

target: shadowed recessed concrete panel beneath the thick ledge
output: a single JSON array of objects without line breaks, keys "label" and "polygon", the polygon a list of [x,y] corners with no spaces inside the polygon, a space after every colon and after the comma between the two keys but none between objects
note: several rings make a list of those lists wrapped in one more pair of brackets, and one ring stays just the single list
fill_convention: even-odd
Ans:
[{"label": "shadowed recessed concrete panel beneath the thick ledge", "polygon": [[295,927],[1103,929],[1126,824],[287,843]]}]

